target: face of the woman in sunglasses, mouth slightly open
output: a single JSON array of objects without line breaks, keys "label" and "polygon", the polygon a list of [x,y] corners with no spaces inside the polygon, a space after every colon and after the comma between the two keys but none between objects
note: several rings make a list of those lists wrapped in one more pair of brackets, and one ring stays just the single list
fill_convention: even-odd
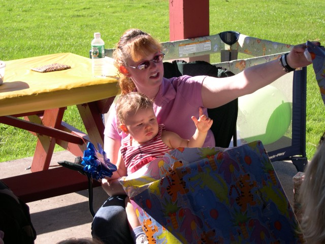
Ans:
[{"label": "face of the woman in sunglasses, mouth slightly open", "polygon": [[[143,93],[150,97],[151,94],[157,93],[159,86],[163,81],[164,65],[163,61],[155,63],[153,59],[158,60],[158,55],[161,55],[160,51],[156,51],[148,56],[142,57],[139,61],[135,62],[131,58],[127,60],[126,69],[128,71],[127,76],[131,77],[135,83],[138,92]],[[132,68],[138,67],[145,61],[149,61],[149,66],[146,69]]]}]

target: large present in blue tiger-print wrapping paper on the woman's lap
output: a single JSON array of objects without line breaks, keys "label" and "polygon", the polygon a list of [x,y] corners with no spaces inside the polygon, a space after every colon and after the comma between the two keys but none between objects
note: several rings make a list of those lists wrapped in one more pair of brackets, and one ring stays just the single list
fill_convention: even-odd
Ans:
[{"label": "large present in blue tiger-print wrapping paper on the woman's lap", "polygon": [[120,182],[149,243],[304,242],[261,141],[177,148]]}]

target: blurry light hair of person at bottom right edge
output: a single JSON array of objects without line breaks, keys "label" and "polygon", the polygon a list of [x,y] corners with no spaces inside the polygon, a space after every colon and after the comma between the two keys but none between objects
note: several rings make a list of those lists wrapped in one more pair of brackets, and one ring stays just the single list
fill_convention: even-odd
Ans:
[{"label": "blurry light hair of person at bottom right edge", "polygon": [[320,142],[305,170],[300,200],[304,209],[300,224],[307,243],[325,243],[325,142]]}]

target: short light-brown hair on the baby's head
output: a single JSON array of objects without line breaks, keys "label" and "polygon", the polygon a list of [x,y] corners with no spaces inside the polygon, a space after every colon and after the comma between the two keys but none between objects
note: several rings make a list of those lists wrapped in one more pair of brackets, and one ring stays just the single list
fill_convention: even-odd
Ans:
[{"label": "short light-brown hair on the baby's head", "polygon": [[153,102],[145,95],[130,92],[121,95],[116,102],[116,116],[120,124],[124,124],[128,113],[135,113],[139,109],[152,108]]}]

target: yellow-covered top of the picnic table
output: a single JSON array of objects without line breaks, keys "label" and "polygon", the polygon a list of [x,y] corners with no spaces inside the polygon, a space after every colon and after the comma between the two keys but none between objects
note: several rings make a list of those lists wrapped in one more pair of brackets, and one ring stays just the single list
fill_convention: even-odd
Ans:
[{"label": "yellow-covered top of the picnic table", "polygon": [[[31,70],[54,63],[69,65],[71,69],[48,73]],[[66,107],[116,96],[117,71],[112,63],[107,65],[107,69],[110,76],[93,77],[91,59],[73,53],[10,60],[6,62],[4,83],[0,85],[0,116]]]}]

